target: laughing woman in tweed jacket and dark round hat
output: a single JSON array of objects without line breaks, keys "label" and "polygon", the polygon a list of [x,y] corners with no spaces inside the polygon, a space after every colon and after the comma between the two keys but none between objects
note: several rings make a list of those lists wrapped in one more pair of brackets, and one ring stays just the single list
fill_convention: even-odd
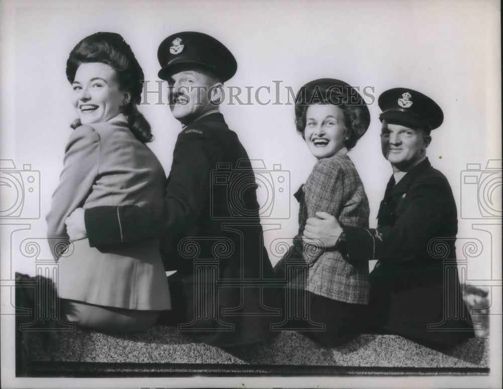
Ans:
[{"label": "laughing woman in tweed jacket and dark round hat", "polygon": [[[294,195],[300,203],[299,232],[275,271],[282,276],[285,261],[304,258],[309,268],[307,280],[297,279],[291,287],[307,290],[311,322],[324,324],[324,331],[310,328],[306,334],[321,344],[333,345],[360,330],[369,295],[368,265],[350,264],[337,246],[317,250],[308,240],[302,241],[302,232],[307,218],[326,214],[346,226],[368,226],[368,199],[347,152],[367,131],[370,113],[355,88],[325,78],[299,90],[295,117],[297,131],[318,161]],[[319,210],[324,212],[316,212]]]}]

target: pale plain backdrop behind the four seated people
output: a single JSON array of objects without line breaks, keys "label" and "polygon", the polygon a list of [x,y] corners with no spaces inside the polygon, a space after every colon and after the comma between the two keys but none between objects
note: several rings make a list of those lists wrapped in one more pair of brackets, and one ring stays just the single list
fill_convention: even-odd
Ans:
[{"label": "pale plain backdrop behind the four seated people", "polygon": [[[468,163],[481,164],[473,176],[490,177],[487,161],[501,158],[499,2],[4,0],[0,7],[1,158],[12,160],[20,171],[30,164],[40,172],[40,204],[35,190],[24,199],[22,215],[29,217],[39,207],[40,217],[2,218],[3,280],[12,279],[15,270],[35,272],[33,258],[18,255],[10,231],[19,227],[13,224],[24,223],[31,237],[45,237],[44,218],[62,169],[71,132],[68,124],[75,118],[65,77],[73,46],[98,31],[120,33],[131,45],[145,78],[152,81],[149,90],[155,90],[159,43],[175,32],[200,31],[219,39],[236,57],[238,70],[228,85],[252,90],[253,104],[221,107],[229,127],[250,158],[262,159],[269,169],[281,164],[281,169],[290,172],[290,193],[306,179],[315,160],[296,134],[293,106],[258,104],[258,87],[271,88],[271,93],[262,89],[259,97],[263,102],[271,98],[272,103],[278,98],[275,84],[280,84],[280,103],[286,103],[286,86],[297,91],[305,82],[321,77],[369,86],[376,101],[382,91],[398,86],[431,96],[442,107],[445,120],[432,133],[428,155],[449,179],[458,211],[467,212],[459,215],[458,258],[463,258],[463,238],[478,240],[481,248],[468,261],[467,278],[476,284],[500,284],[500,219],[480,215],[478,186],[462,185]],[[167,106],[155,105],[155,95],[149,94],[148,101],[151,104],[141,111],[155,135],[150,147],[169,174],[181,127]],[[370,224],[375,227],[391,168],[380,152],[376,103],[370,111],[371,126],[350,156],[368,193]],[[495,191],[488,194],[499,211],[500,189],[499,180],[499,186],[496,182]],[[13,201],[9,193],[2,191],[4,204]],[[297,231],[298,206],[292,196],[286,199],[291,204],[283,201],[275,207],[289,213],[288,219],[263,220],[281,224],[280,230],[266,234],[268,245],[274,238],[291,238]],[[274,263],[278,258],[272,255],[271,260]],[[500,291],[495,297],[498,307]],[[437,382],[441,384],[442,378]]]}]

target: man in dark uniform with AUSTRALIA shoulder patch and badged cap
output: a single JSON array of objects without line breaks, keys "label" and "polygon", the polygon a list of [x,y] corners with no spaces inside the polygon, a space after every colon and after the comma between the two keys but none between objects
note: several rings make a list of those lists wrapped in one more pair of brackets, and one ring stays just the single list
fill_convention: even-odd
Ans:
[{"label": "man in dark uniform with AUSTRALIA shoulder patch and badged cap", "polygon": [[[169,277],[171,323],[216,346],[270,339],[280,300],[268,280],[273,271],[257,184],[245,149],[218,108],[236,60],[218,40],[198,32],[167,37],[157,56],[171,111],[183,125],[165,196],[141,207],[80,210],[68,218],[68,234],[72,240],[87,234],[96,247],[160,237],[165,269],[177,270]],[[214,182],[215,170],[225,182]],[[230,190],[236,182],[244,183],[238,198]]]}]

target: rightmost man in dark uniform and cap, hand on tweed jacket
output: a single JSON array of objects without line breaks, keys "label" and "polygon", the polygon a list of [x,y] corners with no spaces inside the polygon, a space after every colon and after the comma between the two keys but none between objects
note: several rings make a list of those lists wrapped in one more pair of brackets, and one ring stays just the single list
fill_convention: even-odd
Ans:
[{"label": "rightmost man in dark uniform and cap, hand on tweed jacket", "polygon": [[[456,204],[446,177],[426,156],[430,132],[444,115],[428,96],[406,88],[385,91],[378,104],[382,153],[393,174],[377,228],[341,226],[332,216],[317,213],[307,220],[303,239],[339,247],[351,263],[378,260],[370,273],[372,331],[448,347],[473,336],[473,325],[452,271]],[[439,258],[440,247],[451,262]]]}]

